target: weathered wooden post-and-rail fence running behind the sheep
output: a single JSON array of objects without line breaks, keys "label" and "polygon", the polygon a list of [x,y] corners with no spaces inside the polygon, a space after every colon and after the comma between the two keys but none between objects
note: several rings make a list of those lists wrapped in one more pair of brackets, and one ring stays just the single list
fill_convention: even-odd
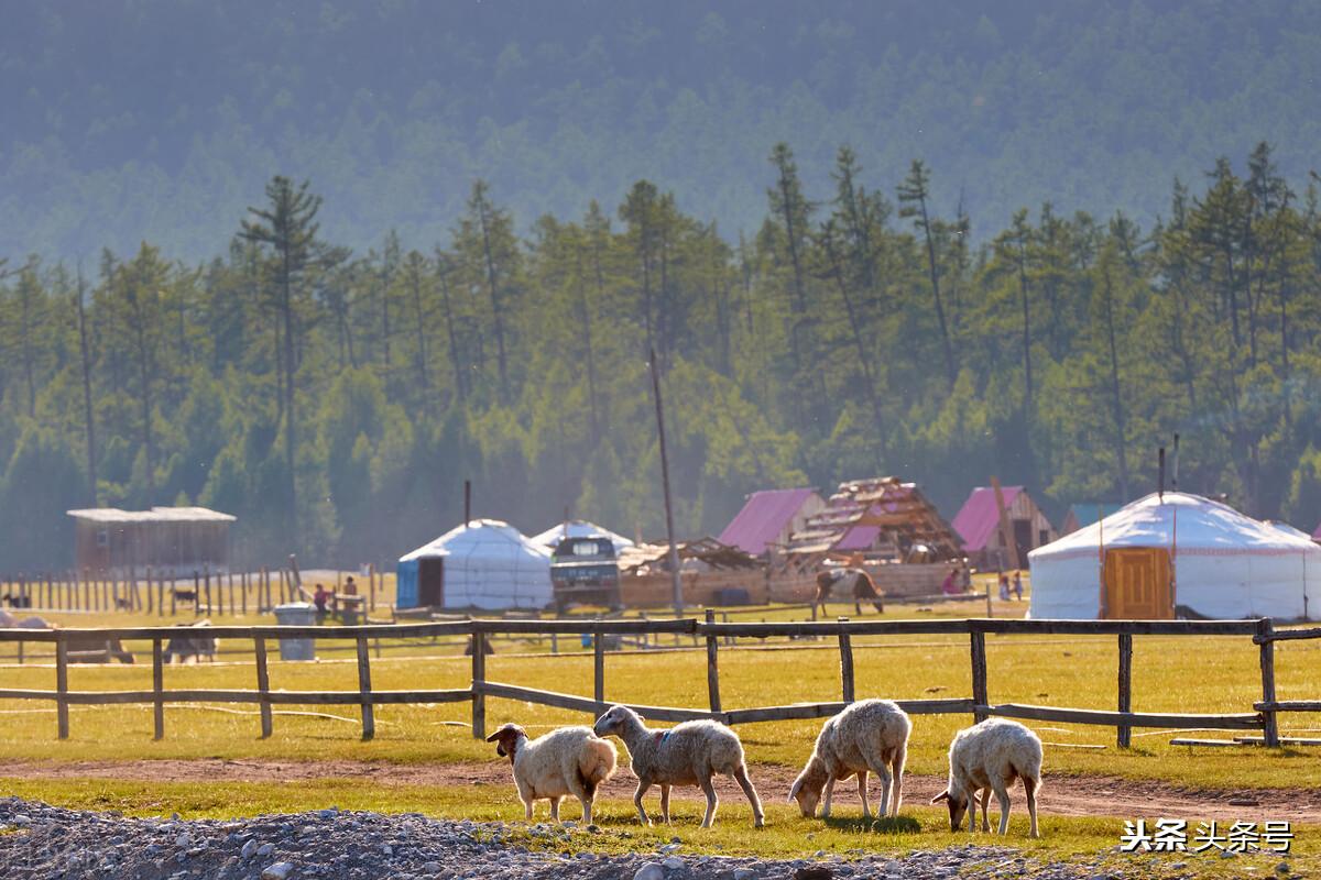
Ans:
[{"label": "weathered wooden post-and-rail fence running behind the sheep", "polygon": [[[966,635],[972,674],[972,694],[948,699],[896,701],[910,714],[971,714],[976,720],[988,716],[1028,720],[1098,724],[1118,731],[1120,747],[1129,744],[1133,727],[1168,727],[1176,730],[1254,730],[1262,732],[1266,745],[1279,745],[1277,714],[1287,711],[1321,711],[1321,701],[1277,701],[1275,695],[1275,643],[1296,639],[1321,639],[1321,628],[1276,632],[1269,619],[1262,620],[848,620],[802,623],[723,623],[708,611],[705,620],[453,620],[443,623],[388,624],[366,627],[211,627],[206,636],[217,639],[251,639],[256,654],[255,690],[165,690],[162,643],[172,637],[197,635],[170,627],[114,629],[0,629],[0,641],[54,643],[55,690],[0,689],[0,699],[54,701],[61,739],[69,736],[69,706],[151,703],[155,707],[155,736],[165,735],[165,703],[256,703],[260,707],[262,736],[272,730],[271,707],[276,705],[355,705],[362,711],[362,736],[375,734],[374,707],[399,703],[472,703],[473,736],[486,735],[486,698],[526,701],[593,715],[605,710],[605,656],[608,637],[662,635],[692,636],[705,640],[707,708],[645,706],[625,703],[646,718],[662,722],[716,719],[727,724],[826,718],[839,712],[855,697],[853,646],[857,636]],[[450,690],[375,690],[371,686],[373,639],[417,639],[435,636],[468,636],[473,640],[472,683]],[[593,694],[580,697],[551,690],[522,687],[490,681],[486,677],[486,640],[505,636],[589,636],[593,644]],[[992,703],[987,687],[987,635],[1111,635],[1118,637],[1119,679],[1115,711]],[[1133,636],[1250,636],[1259,646],[1262,699],[1251,712],[1185,714],[1137,712],[1132,708]],[[790,706],[725,708],[720,698],[720,645],[731,639],[827,637],[836,640],[840,660],[840,698]],[[89,640],[149,640],[152,643],[152,690],[74,691],[69,689],[69,644]],[[358,689],[349,691],[271,690],[267,644],[283,639],[353,640],[358,654]],[[620,701],[612,701],[620,702]]]}]

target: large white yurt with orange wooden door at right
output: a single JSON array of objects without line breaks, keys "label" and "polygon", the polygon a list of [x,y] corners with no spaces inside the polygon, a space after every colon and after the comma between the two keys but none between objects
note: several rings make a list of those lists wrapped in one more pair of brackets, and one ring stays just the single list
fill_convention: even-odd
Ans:
[{"label": "large white yurt with orange wooden door at right", "polygon": [[1032,616],[1321,619],[1321,545],[1185,492],[1028,554]]}]

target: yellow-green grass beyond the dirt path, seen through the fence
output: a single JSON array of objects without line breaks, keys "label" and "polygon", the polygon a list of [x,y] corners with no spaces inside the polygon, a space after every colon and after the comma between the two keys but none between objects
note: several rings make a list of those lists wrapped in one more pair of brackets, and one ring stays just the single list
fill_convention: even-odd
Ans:
[{"label": "yellow-green grass beyond the dirt path, seen through the fence", "polygon": [[[1114,708],[1116,650],[1112,637],[988,636],[989,694],[995,702],[1022,702],[1083,708]],[[1277,645],[1277,689],[1281,699],[1314,698],[1321,646]],[[857,697],[964,697],[971,693],[968,646],[962,637],[873,637],[855,643]],[[9,686],[50,689],[49,666],[8,666]],[[373,661],[373,683],[380,689],[464,687],[470,661],[464,657],[383,657]],[[573,694],[592,693],[592,660],[581,652],[560,656],[498,653],[487,658],[487,678]],[[794,649],[723,649],[721,697],[725,707],[764,706],[839,697],[839,654],[834,643]],[[316,664],[272,662],[271,682],[288,690],[354,690],[357,670],[347,660]],[[149,689],[151,669],[74,666],[70,687]],[[169,687],[254,687],[248,662],[170,668]],[[1139,711],[1250,711],[1259,698],[1256,648],[1243,637],[1137,637],[1133,657],[1133,705]],[[650,705],[704,707],[705,653],[620,653],[606,660],[606,699]],[[279,710],[277,710],[279,711]],[[384,706],[376,708],[376,739],[358,741],[358,714],[336,707],[329,716],[277,715],[275,736],[256,736],[251,706],[180,706],[166,708],[165,739],[151,740],[149,706],[71,707],[71,736],[54,736],[50,703],[0,702],[0,739],[16,759],[132,757],[337,757],[388,761],[487,760],[489,747],[472,739],[466,703]],[[583,723],[577,712],[487,701],[491,727],[517,720],[534,734],[564,723]],[[909,767],[939,773],[951,735],[968,723],[964,715],[926,715],[914,722]],[[819,722],[783,722],[741,728],[754,763],[793,767],[810,751]],[[1309,715],[1283,716],[1285,732],[1318,724]],[[1202,788],[1275,788],[1321,785],[1317,748],[1272,752],[1173,747],[1170,732],[1135,731],[1135,748],[1114,747],[1115,732],[1103,727],[1033,724],[1048,745],[1054,773],[1118,774],[1157,778]],[[1104,745],[1091,751],[1077,745]]]}]

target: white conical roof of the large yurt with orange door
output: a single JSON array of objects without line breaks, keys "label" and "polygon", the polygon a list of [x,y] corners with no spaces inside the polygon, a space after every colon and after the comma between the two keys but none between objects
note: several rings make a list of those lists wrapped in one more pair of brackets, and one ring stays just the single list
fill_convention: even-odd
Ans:
[{"label": "white conical roof of the large yurt with orange door", "polygon": [[1032,562],[1096,554],[1107,548],[1174,548],[1196,554],[1314,551],[1317,545],[1234,508],[1186,492],[1152,492],[1099,522],[1028,554]]}]

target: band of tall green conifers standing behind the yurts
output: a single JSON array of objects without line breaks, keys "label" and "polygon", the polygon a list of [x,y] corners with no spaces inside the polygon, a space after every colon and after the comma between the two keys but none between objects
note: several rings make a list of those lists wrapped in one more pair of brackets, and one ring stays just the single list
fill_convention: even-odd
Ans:
[{"label": "band of tall green conifers standing behind the yurts", "polygon": [[1160,183],[1156,223],[1044,202],[980,234],[925,161],[840,146],[812,186],[789,142],[745,158],[748,235],[667,181],[523,218],[477,179],[424,248],[341,240],[318,182],[277,175],[205,260],[9,255],[3,558],[65,559],[69,508],[172,503],[238,515],[244,561],[391,558],[464,479],[524,529],[569,507],[654,536],[649,348],[683,534],[876,474],[951,515],[992,474],[1057,511],[1131,499],[1174,431],[1181,487],[1321,517],[1321,194],[1266,142]]}]

